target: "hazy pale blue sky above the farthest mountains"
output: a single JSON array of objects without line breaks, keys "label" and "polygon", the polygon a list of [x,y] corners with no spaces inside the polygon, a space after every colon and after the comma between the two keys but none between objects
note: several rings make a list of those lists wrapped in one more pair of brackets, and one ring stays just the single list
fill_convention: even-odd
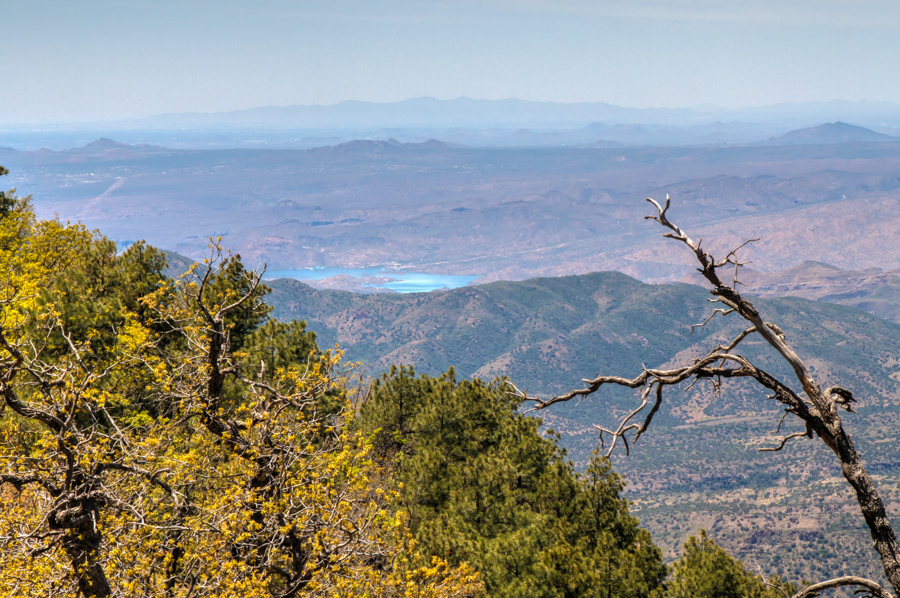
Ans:
[{"label": "hazy pale blue sky above the farthest mountains", "polygon": [[900,102],[896,0],[0,0],[0,125],[416,96]]}]

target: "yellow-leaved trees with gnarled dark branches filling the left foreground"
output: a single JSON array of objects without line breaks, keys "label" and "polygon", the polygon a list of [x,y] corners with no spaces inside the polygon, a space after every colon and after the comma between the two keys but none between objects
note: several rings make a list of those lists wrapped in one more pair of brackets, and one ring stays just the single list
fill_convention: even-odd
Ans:
[{"label": "yellow-leaved trees with gnarled dark branches filling the left foreground", "polygon": [[216,248],[145,296],[144,316],[79,311],[73,293],[105,297],[78,278],[97,247],[116,259],[24,201],[0,218],[0,596],[479,589],[469,567],[418,554],[389,509],[346,425],[340,352],[265,371],[232,350],[230,314],[259,302],[258,278],[216,295]]}]

